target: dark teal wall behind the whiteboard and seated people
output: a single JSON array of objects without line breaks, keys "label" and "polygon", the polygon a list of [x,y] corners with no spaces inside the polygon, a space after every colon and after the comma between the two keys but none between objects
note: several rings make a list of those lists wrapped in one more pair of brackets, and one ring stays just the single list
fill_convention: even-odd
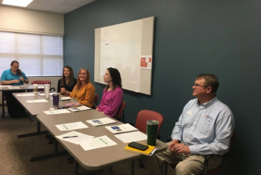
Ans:
[{"label": "dark teal wall behind the whiteboard and seated people", "polygon": [[[93,82],[95,28],[149,16],[155,16],[152,95],[124,90],[126,121],[155,110],[165,119],[166,141],[193,98],[196,75],[214,73],[218,98],[236,121],[234,171],[261,174],[261,1],[96,0],[65,14],[65,65],[76,75],[89,69]],[[104,85],[93,84],[101,97]]]}]

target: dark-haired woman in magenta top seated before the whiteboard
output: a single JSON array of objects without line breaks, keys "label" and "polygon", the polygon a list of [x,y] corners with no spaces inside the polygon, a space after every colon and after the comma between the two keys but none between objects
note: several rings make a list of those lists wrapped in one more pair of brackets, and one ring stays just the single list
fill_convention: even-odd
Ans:
[{"label": "dark-haired woman in magenta top seated before the whiteboard", "polygon": [[108,85],[103,91],[102,101],[96,107],[96,110],[110,117],[115,117],[122,105],[122,78],[120,77],[120,72],[111,67],[106,70],[103,78]]}]

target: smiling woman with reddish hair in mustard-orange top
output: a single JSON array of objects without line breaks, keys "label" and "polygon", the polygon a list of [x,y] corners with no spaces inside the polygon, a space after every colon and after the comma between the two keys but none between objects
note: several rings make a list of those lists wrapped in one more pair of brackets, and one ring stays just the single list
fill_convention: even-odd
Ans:
[{"label": "smiling woman with reddish hair in mustard-orange top", "polygon": [[77,84],[69,97],[78,100],[78,103],[89,106],[94,104],[95,87],[90,82],[90,72],[87,69],[80,69],[77,78]]}]

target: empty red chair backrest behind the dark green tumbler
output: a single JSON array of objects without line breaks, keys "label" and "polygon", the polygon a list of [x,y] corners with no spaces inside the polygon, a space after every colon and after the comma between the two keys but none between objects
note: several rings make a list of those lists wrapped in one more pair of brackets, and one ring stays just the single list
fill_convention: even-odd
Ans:
[{"label": "empty red chair backrest behind the dark green tumbler", "polygon": [[[157,113],[152,110],[141,110],[139,111],[136,119],[135,128],[139,129],[141,132],[146,133],[147,121],[148,120],[157,120],[159,121],[159,130],[163,124],[164,118],[160,113]],[[158,130],[158,135],[159,135]]]}]

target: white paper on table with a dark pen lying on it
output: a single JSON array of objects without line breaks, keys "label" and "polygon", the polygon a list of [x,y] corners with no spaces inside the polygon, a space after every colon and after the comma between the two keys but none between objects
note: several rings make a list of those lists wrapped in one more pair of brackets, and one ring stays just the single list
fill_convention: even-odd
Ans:
[{"label": "white paper on table with a dark pen lying on it", "polygon": [[[63,139],[63,137],[70,137],[70,136],[78,136],[78,137],[71,137],[71,138],[65,138]],[[71,143],[74,143],[76,145],[84,142],[84,141],[87,141],[89,139],[93,139],[94,136],[91,136],[91,135],[84,135],[80,132],[76,132],[76,131],[71,131],[71,132],[67,132],[66,134],[64,135],[59,135],[59,136],[56,136],[58,139],[60,140],[63,140],[63,141],[69,141]]]}]

